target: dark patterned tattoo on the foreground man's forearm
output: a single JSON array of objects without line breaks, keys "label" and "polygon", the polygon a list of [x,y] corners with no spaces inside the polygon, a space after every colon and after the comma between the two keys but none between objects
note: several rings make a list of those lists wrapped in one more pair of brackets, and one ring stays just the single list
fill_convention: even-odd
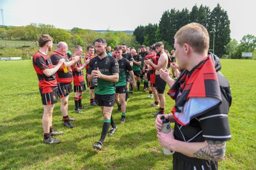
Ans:
[{"label": "dark patterned tattoo on the foreground man's forearm", "polygon": [[208,145],[201,148],[193,155],[198,159],[206,159],[212,161],[222,160],[225,155],[226,141],[209,141]]}]

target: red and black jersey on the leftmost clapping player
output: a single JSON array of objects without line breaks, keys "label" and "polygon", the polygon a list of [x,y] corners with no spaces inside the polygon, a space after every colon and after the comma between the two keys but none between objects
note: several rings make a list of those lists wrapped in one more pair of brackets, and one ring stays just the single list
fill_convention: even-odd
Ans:
[{"label": "red and black jersey on the leftmost clapping player", "polygon": [[37,51],[33,55],[33,67],[36,71],[39,80],[39,89],[42,91],[42,94],[51,93],[52,87],[57,87],[56,76],[52,74],[48,77],[43,72],[45,69],[51,69],[53,67],[50,57]]}]

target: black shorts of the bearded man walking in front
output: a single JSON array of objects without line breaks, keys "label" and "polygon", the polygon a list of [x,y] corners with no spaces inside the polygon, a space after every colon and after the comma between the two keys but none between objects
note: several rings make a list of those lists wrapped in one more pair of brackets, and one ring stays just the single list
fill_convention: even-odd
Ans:
[{"label": "black shorts of the bearded man walking in front", "polygon": [[116,94],[100,95],[95,94],[96,103],[99,106],[113,107],[115,106]]}]

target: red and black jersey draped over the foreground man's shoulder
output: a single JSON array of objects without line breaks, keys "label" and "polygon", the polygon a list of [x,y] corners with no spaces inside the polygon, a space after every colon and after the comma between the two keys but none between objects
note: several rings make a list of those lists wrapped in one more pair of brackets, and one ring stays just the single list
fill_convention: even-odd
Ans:
[{"label": "red and black jersey draped over the foreground man's shoulder", "polygon": [[[220,104],[220,85],[212,57],[208,55],[191,71],[185,69],[167,94],[175,99],[175,106],[172,109],[172,113],[175,120],[181,125],[187,125],[192,118],[202,115],[206,111],[205,108],[208,107],[207,110],[209,110]],[[214,98],[218,103],[214,103],[214,106],[205,106],[202,111],[200,108],[196,108],[194,113],[189,113],[188,110],[184,109],[184,104],[189,99],[200,99],[202,103],[207,103],[206,100],[211,98]],[[191,107],[195,108],[197,106],[189,106],[189,108]]]}]

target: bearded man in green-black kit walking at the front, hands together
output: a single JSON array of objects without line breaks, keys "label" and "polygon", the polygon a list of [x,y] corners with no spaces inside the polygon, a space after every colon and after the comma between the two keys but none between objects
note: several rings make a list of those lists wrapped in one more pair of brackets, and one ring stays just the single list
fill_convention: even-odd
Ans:
[{"label": "bearded man in green-black kit walking at the front, hands together", "polygon": [[106,53],[106,48],[107,43],[105,39],[98,38],[95,40],[97,56],[90,60],[87,76],[88,81],[97,78],[98,85],[95,87],[95,99],[104,117],[100,139],[93,144],[93,148],[97,150],[101,150],[109,126],[111,125],[112,127],[109,136],[112,136],[117,129],[111,113],[115,105],[113,82],[118,81],[119,67],[117,60]]}]

